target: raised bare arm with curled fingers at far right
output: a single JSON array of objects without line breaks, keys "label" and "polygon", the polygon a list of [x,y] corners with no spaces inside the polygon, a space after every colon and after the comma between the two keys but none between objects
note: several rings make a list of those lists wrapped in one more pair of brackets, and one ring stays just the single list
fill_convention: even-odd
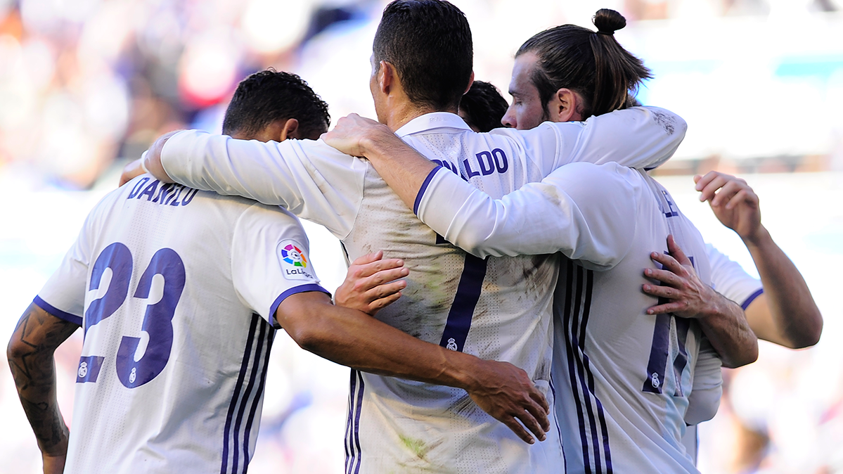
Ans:
[{"label": "raised bare arm with curled fingers at far right", "polygon": [[785,347],[816,344],[823,316],[802,274],[761,224],[758,196],[746,181],[732,175],[711,171],[694,180],[700,200],[708,201],[720,222],[744,241],[758,268],[764,294],[746,309],[754,333]]}]

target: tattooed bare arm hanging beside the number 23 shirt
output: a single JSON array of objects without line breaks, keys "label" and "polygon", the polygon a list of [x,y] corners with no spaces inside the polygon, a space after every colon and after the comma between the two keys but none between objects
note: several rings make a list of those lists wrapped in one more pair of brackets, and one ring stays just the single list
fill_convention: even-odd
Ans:
[{"label": "tattooed bare arm hanging beside the number 23 shirt", "polygon": [[30,304],[6,348],[8,366],[38,440],[45,474],[64,470],[69,434],[56,401],[53,353],[78,327]]}]

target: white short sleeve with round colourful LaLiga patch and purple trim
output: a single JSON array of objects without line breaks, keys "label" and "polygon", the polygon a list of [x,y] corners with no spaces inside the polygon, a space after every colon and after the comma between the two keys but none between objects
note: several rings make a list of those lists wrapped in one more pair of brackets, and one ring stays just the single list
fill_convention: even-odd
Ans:
[{"label": "white short sleeve with round colourful LaLiga patch and purple trim", "polygon": [[319,284],[307,234],[298,219],[260,204],[238,219],[232,241],[234,290],[246,306],[275,325],[275,311],[287,297],[306,291],[330,294]]}]

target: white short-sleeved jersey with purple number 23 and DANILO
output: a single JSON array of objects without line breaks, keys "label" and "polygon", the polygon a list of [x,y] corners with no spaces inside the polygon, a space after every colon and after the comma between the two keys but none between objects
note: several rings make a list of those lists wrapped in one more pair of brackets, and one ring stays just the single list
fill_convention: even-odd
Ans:
[{"label": "white short-sleeved jersey with purple number 23 and DANILO", "polygon": [[293,215],[139,176],[35,298],[84,329],[65,472],[245,472],[282,300],[319,286]]}]

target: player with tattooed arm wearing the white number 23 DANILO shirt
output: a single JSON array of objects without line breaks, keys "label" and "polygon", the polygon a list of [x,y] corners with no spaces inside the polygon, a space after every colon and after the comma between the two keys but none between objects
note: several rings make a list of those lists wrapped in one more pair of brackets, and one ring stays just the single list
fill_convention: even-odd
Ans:
[{"label": "player with tattooed arm wearing the white number 23 DANILO shirt", "polygon": [[[223,127],[244,139],[282,140],[318,136],[328,121],[325,103],[301,79],[265,71],[240,84]],[[400,261],[378,258],[352,266],[364,307],[383,303],[368,288],[406,274]],[[372,274],[378,268],[387,271]],[[379,289],[395,294],[401,286]],[[85,338],[68,439],[52,355],[79,326]],[[331,304],[293,215],[142,175],[89,214],[8,344],[45,472],[246,471],[278,327],[340,364],[464,388],[521,432],[509,414],[540,433],[524,413],[543,418],[546,406],[523,370]]]}]

